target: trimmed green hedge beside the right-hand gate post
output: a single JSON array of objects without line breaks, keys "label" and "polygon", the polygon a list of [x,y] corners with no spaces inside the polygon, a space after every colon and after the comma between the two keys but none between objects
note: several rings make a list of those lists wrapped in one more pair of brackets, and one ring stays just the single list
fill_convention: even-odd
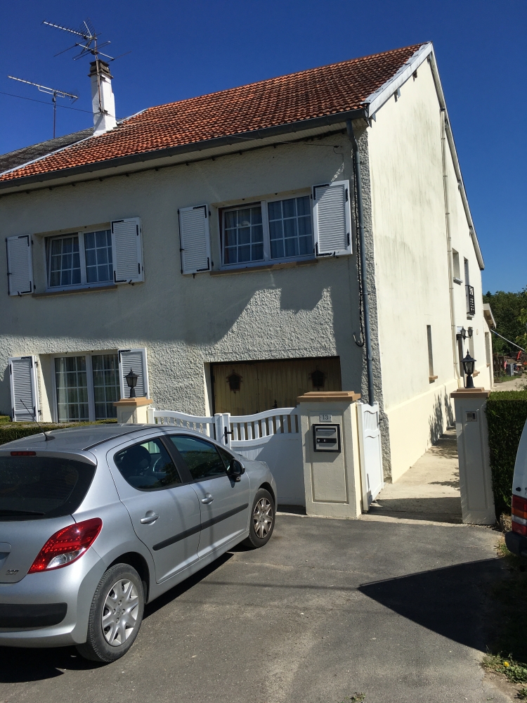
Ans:
[{"label": "trimmed green hedge beside the right-hand gate post", "polygon": [[487,401],[488,447],[496,515],[511,512],[512,476],[523,425],[527,391],[497,391]]}]

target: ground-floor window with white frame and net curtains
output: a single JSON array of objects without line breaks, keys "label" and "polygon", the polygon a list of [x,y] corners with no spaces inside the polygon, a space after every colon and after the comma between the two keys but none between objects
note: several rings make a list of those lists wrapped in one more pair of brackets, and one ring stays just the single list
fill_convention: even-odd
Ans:
[{"label": "ground-floor window with white frame and net curtains", "polygon": [[57,419],[60,423],[110,420],[119,400],[117,354],[58,356],[55,359]]}]

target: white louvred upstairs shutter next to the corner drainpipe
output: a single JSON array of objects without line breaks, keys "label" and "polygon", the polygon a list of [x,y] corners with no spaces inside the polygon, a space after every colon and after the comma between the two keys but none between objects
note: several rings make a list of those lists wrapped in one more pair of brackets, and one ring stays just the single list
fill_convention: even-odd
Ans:
[{"label": "white louvred upstairs shutter next to the corner drainpipe", "polygon": [[315,254],[351,254],[351,195],[349,181],[313,186]]}]

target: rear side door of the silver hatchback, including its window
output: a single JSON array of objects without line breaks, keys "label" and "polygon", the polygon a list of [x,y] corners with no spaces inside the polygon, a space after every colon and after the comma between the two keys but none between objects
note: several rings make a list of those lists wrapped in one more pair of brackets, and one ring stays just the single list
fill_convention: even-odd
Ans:
[{"label": "rear side door of the silver hatchback, including its window", "polygon": [[201,513],[160,437],[112,450],[108,465],[134,531],[150,550],[157,583],[197,560]]}]

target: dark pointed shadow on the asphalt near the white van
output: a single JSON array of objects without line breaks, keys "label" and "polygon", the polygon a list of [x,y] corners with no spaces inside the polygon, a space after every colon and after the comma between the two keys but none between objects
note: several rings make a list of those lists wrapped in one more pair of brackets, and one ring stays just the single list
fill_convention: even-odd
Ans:
[{"label": "dark pointed shadow on the asphalt near the white van", "polygon": [[496,559],[359,586],[368,598],[439,635],[486,651],[481,586],[500,575]]}]

